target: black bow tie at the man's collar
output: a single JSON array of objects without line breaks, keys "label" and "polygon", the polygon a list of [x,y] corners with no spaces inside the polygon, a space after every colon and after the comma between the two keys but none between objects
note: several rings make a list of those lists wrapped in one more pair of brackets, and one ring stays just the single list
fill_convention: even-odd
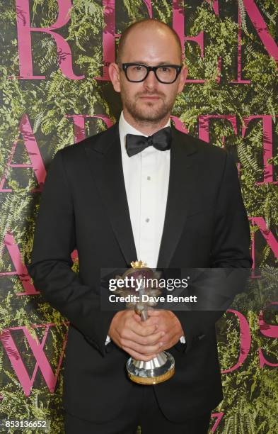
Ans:
[{"label": "black bow tie at the man's collar", "polygon": [[149,137],[137,134],[127,134],[127,155],[132,157],[132,155],[138,154],[142,150],[148,148],[148,146],[154,146],[154,148],[158,150],[168,150],[170,149],[171,138],[170,127],[162,128],[153,135],[149,135]]}]

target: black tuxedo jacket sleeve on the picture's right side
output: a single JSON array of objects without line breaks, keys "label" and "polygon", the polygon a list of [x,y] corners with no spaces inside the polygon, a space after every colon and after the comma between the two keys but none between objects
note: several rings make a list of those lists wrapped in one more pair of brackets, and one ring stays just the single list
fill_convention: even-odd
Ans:
[{"label": "black tuxedo jacket sleeve on the picture's right side", "polygon": [[[211,267],[250,269],[251,266],[248,216],[241,196],[236,165],[231,155],[226,153],[226,163],[215,207]],[[237,285],[238,292],[245,287],[247,277],[248,272],[240,275]],[[226,290],[230,289],[227,287]],[[227,296],[230,296],[230,304],[235,296],[234,290],[233,286],[231,294],[227,293]],[[208,330],[212,330],[227,308],[228,306],[225,310],[175,311],[185,333],[185,352],[188,352],[195,342],[202,339]]]}]

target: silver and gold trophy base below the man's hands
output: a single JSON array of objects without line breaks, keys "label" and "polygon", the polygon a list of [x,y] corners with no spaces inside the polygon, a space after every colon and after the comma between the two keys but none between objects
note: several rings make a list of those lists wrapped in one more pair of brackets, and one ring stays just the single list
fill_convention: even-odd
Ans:
[{"label": "silver and gold trophy base below the man's hands", "polygon": [[132,357],[127,360],[127,374],[134,383],[158,384],[166,382],[174,373],[175,360],[170,352],[160,352],[148,362],[134,360]]}]

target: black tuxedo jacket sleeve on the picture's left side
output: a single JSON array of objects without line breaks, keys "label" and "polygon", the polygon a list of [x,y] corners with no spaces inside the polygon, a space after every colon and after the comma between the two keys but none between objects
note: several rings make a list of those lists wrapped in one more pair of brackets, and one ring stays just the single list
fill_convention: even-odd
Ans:
[{"label": "black tuxedo jacket sleeve on the picture's left side", "polygon": [[69,319],[105,355],[105,339],[115,312],[100,310],[100,297],[71,267],[76,247],[74,205],[63,166],[63,150],[47,172],[35,225],[28,272],[44,299]]}]

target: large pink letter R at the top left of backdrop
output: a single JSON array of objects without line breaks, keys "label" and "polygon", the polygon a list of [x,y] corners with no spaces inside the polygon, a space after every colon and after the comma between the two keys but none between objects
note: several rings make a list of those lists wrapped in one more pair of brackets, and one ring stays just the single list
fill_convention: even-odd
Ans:
[{"label": "large pink letter R at the top left of backdrop", "polygon": [[20,79],[45,79],[45,75],[33,75],[31,32],[51,35],[57,44],[59,67],[69,79],[80,80],[84,75],[76,75],[72,69],[71,48],[66,40],[54,30],[65,26],[70,19],[71,0],[57,0],[59,7],[57,21],[50,27],[30,26],[29,0],[16,0],[16,22],[18,28],[18,55]]}]

